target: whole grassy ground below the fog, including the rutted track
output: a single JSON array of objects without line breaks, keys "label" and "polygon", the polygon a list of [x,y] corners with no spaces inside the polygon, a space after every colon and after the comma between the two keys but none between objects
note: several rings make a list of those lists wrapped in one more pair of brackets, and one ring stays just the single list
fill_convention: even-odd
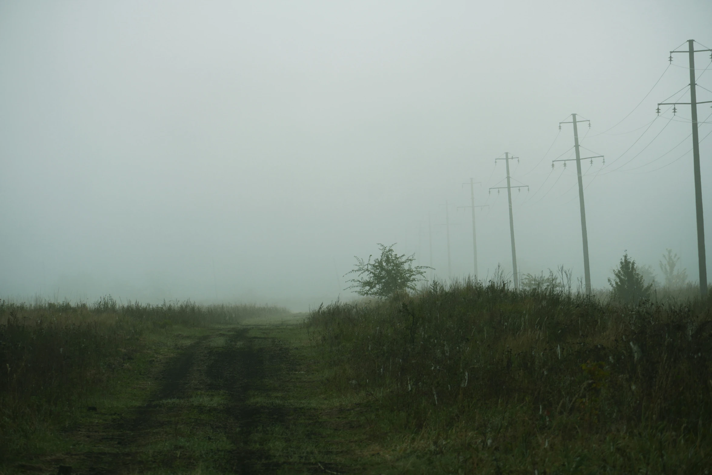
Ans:
[{"label": "whole grassy ground below the fog, including the rutted track", "polygon": [[[143,310],[138,310],[138,309]],[[2,307],[1,474],[705,474],[704,301]]]}]

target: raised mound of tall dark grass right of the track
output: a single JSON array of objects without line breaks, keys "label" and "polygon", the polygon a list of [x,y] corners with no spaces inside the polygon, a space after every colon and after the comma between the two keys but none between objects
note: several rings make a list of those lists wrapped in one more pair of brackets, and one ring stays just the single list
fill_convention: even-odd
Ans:
[{"label": "raised mound of tall dark grass right of the track", "polygon": [[[636,308],[502,283],[311,313],[325,387],[392,473],[708,473],[708,301]],[[387,473],[384,471],[383,473]]]}]

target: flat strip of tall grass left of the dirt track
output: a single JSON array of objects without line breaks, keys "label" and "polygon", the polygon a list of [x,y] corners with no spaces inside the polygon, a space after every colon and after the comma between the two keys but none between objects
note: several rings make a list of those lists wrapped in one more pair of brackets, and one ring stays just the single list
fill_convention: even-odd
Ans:
[{"label": "flat strip of tall grass left of the dirt track", "polygon": [[[181,345],[215,325],[288,315],[271,306],[0,301],[0,461],[62,449],[62,435],[108,397],[127,404]],[[143,392],[147,392],[143,388]]]}]

